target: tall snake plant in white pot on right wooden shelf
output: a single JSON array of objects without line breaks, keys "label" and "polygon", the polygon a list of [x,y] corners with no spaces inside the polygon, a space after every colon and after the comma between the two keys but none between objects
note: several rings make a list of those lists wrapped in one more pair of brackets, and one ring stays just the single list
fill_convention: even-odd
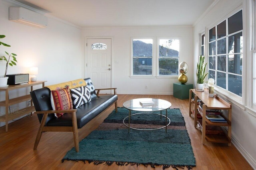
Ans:
[{"label": "tall snake plant in white pot on right wooden shelf", "polygon": [[205,73],[207,63],[204,64],[204,56],[200,56],[199,63],[197,63],[197,82],[196,82],[196,90],[202,90],[203,84],[205,81],[205,77],[209,74]]}]

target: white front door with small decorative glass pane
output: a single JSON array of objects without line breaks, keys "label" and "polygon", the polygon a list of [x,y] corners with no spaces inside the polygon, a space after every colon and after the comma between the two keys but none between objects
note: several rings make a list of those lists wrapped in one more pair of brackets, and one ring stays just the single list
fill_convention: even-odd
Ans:
[{"label": "white front door with small decorative glass pane", "polygon": [[[87,39],[87,75],[95,89],[111,88],[111,39]],[[110,90],[100,93],[110,94]]]}]

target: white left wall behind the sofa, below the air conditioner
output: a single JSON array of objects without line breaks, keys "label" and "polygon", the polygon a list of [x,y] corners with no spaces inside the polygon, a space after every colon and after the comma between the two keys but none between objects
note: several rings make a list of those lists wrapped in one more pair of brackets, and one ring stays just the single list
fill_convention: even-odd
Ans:
[{"label": "white left wall behind the sofa, below the air conditioner", "polygon": [[[47,28],[9,21],[9,6],[14,5],[0,0],[0,35],[6,35],[0,41],[11,45],[1,45],[0,56],[5,54],[4,51],[18,55],[17,66],[9,66],[7,74],[29,73],[31,66],[38,66],[37,78],[46,80],[46,85],[84,78],[84,39],[81,29],[53,18],[48,18]],[[5,64],[0,61],[0,76],[4,75]],[[28,89],[11,91],[13,97],[26,92]],[[0,92],[0,101],[5,100],[4,97],[4,92]],[[0,107],[1,111],[4,111],[4,107]]]}]

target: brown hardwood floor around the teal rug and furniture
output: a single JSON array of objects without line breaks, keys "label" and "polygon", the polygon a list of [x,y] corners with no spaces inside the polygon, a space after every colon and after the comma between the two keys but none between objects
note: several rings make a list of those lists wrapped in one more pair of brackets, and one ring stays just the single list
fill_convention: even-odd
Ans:
[{"label": "brown hardwood floor around the teal rug and furniture", "polygon": [[[180,100],[172,95],[118,95],[118,107],[126,100],[133,98],[160,98],[172,103],[170,108],[180,108],[186,122],[186,128],[196,157],[196,167],[193,170],[250,170],[252,167],[246,162],[238,150],[231,145],[208,143],[201,144],[201,132],[194,128],[194,119],[188,115],[188,100]],[[80,141],[91,131],[96,129],[108,116],[114,106],[102,112],[96,119],[90,121],[79,131]],[[74,147],[73,135],[70,132],[43,133],[37,150],[33,150],[39,121],[37,115],[24,117],[9,124],[9,131],[0,127],[0,169],[6,170],[153,170],[150,166],[117,166],[112,164],[94,165],[80,161],[61,162],[66,152]],[[175,154],[175,153],[172,153]],[[160,170],[157,166],[155,170]],[[173,168],[168,168],[172,170]]]}]

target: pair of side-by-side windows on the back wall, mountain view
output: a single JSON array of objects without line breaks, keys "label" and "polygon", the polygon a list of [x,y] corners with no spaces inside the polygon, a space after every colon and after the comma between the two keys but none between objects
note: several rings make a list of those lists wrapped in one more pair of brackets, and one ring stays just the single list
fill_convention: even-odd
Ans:
[{"label": "pair of side-by-side windows on the back wall, mountain view", "polygon": [[180,40],[163,38],[154,42],[132,39],[132,75],[178,76]]}]

